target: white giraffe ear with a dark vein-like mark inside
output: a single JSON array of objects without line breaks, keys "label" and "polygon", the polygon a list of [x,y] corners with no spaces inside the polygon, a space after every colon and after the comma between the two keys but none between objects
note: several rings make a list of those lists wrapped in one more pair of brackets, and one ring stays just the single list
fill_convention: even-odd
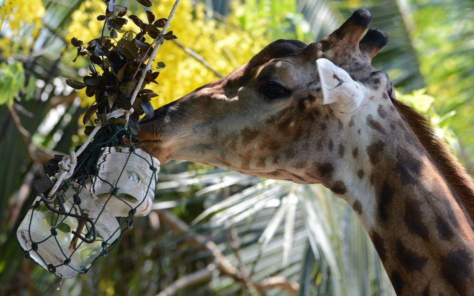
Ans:
[{"label": "white giraffe ear with a dark vein-like mark inside", "polygon": [[362,103],[365,87],[328,59],[317,59],[316,67],[321,83],[322,103],[329,104],[336,115],[355,112]]}]

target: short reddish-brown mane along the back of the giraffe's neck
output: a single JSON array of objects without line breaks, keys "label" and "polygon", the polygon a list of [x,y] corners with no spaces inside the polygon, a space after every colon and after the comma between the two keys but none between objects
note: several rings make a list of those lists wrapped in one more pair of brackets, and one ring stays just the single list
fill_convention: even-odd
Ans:
[{"label": "short reddish-brown mane along the back of the giraffe's neck", "polygon": [[426,117],[396,99],[391,101],[457,196],[471,222],[474,222],[474,184],[467,171],[446,143],[435,135]]}]

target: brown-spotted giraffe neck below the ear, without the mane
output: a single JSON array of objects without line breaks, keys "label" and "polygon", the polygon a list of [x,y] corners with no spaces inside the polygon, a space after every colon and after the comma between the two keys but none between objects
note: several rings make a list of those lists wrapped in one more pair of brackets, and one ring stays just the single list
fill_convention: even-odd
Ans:
[{"label": "brown-spotted giraffe neck below the ear, without the mane", "polygon": [[398,295],[472,295],[470,219],[399,114],[386,112],[389,104],[380,106],[363,122],[347,125],[347,142],[367,144],[355,145],[360,152],[346,159],[343,198],[362,221]]}]

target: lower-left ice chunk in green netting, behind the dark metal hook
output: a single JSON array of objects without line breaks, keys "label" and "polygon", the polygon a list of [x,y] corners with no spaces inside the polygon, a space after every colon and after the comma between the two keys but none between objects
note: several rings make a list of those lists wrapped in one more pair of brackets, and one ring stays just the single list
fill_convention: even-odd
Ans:
[{"label": "lower-left ice chunk in green netting, behind the dark metal hook", "polygon": [[43,193],[35,199],[16,237],[27,258],[56,276],[72,278],[85,272],[119,230],[102,201],[78,183],[65,182],[52,199]]}]

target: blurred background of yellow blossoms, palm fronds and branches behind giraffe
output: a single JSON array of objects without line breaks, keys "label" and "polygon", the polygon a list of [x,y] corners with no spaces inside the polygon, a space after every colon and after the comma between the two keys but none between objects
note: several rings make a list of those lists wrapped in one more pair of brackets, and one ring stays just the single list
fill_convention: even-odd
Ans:
[{"label": "blurred background of yellow blossoms, palm fronds and branches behind giraffe", "polygon": [[[144,13],[134,0],[121,2]],[[166,17],[173,1],[152,2]],[[188,162],[161,168],[151,214],[88,275],[59,284],[25,260],[15,231],[34,198],[30,184],[52,154],[84,139],[79,122],[90,100],[64,77],[79,78],[87,62],[72,63],[69,40],[98,36],[104,7],[0,0],[0,294],[394,294],[361,224],[325,188]],[[359,7],[389,36],[372,64],[472,171],[472,0],[183,0],[171,23],[178,39],[158,51],[166,67],[152,103],[229,73],[275,39],[318,40]]]}]

